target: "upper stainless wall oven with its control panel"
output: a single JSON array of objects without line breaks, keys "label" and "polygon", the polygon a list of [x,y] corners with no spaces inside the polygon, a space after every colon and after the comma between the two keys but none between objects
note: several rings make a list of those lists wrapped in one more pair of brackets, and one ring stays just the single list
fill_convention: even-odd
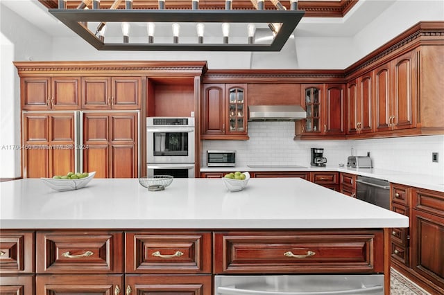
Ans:
[{"label": "upper stainless wall oven with its control panel", "polygon": [[194,163],[194,118],[146,118],[148,163]]}]

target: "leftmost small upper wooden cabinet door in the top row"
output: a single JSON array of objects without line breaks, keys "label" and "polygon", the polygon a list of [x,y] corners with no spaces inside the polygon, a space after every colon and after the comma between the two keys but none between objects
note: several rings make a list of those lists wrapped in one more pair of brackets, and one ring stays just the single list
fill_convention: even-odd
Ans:
[{"label": "leftmost small upper wooden cabinet door in the top row", "polygon": [[51,109],[51,78],[26,77],[21,84],[22,109]]}]

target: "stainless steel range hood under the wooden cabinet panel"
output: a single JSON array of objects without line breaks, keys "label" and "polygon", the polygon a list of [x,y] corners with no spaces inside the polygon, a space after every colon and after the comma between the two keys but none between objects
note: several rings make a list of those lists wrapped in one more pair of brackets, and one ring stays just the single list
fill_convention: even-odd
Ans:
[{"label": "stainless steel range hood under the wooden cabinet panel", "polygon": [[300,105],[249,105],[248,120],[293,121],[307,118]]}]

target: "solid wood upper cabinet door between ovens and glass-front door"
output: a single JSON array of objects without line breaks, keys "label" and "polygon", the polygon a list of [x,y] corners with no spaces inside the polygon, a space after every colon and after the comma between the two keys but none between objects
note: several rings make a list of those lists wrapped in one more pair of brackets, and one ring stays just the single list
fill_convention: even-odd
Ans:
[{"label": "solid wood upper cabinet door between ovens and glass-front door", "polygon": [[223,134],[225,134],[225,84],[204,84],[202,138]]}]

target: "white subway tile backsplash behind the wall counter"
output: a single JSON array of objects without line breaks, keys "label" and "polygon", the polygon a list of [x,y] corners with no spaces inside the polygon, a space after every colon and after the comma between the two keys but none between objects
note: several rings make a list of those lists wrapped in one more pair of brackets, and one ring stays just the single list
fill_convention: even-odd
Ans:
[{"label": "white subway tile backsplash behind the wall counter", "polygon": [[[370,152],[373,167],[444,177],[444,136],[411,136],[347,141],[294,141],[293,122],[248,122],[248,141],[203,141],[201,163],[207,150],[236,150],[237,166],[250,164],[310,166],[310,148],[323,147],[327,166],[347,163],[347,157]],[[432,162],[438,152],[438,163]]]}]

